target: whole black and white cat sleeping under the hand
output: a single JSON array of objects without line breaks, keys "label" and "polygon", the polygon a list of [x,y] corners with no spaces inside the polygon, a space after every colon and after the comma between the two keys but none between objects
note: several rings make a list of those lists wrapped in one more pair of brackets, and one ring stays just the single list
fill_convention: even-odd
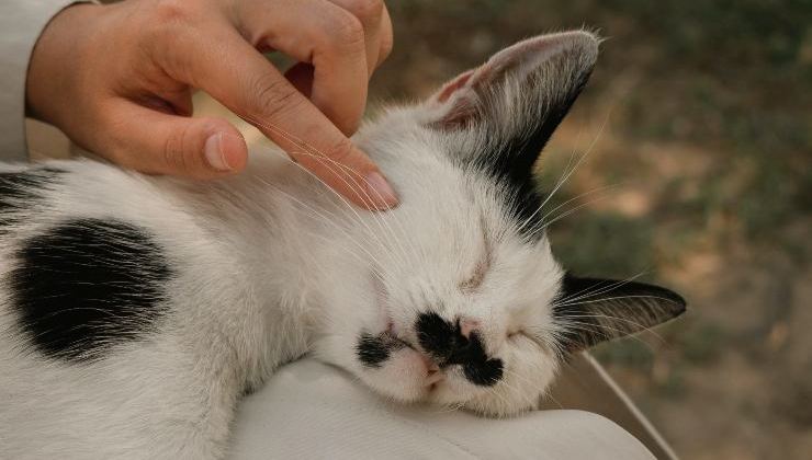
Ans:
[{"label": "whole black and white cat sleeping under the hand", "polygon": [[527,39],[366,125],[386,212],[281,151],[210,183],[3,166],[0,458],[222,458],[240,394],[307,353],[392,400],[507,416],[568,354],[680,314],[551,254],[533,163],[597,54],[587,32]]}]

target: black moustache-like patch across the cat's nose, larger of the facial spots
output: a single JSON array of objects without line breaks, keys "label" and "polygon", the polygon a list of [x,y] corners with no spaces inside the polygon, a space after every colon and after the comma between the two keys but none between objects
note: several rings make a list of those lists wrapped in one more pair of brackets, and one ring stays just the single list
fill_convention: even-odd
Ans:
[{"label": "black moustache-like patch across the cat's nose, larger of the facial spots", "polygon": [[452,324],[437,313],[422,313],[415,323],[417,340],[440,367],[462,366],[465,378],[474,384],[489,387],[501,379],[503,361],[488,358],[482,338],[475,332],[462,335],[459,322]]}]

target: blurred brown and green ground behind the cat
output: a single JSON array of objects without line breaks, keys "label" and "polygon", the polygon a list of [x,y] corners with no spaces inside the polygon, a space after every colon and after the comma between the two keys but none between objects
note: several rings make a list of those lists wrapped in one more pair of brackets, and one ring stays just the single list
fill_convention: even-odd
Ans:
[{"label": "blurred brown and green ground behind the cat", "polygon": [[670,286],[690,310],[596,355],[683,458],[809,459],[812,1],[387,5],[395,49],[373,114],[520,38],[607,38],[539,164],[551,186],[587,154],[556,196],[583,207],[553,225],[553,248],[582,274]]}]

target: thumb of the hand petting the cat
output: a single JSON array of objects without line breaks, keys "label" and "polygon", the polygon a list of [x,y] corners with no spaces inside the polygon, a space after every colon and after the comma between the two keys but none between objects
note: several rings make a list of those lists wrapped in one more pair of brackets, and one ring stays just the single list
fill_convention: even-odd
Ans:
[{"label": "thumb of the hand petting the cat", "polygon": [[121,124],[109,160],[150,174],[213,179],[241,171],[248,148],[239,130],[221,118],[189,118],[133,103],[117,114]]}]

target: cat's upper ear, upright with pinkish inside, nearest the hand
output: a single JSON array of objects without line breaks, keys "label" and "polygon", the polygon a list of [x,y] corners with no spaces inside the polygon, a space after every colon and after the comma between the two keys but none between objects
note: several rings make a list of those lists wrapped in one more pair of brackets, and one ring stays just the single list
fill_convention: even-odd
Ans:
[{"label": "cat's upper ear, upright with pinkish inside, nearest the hand", "polygon": [[[519,42],[469,70],[426,103],[426,125],[475,136],[529,173],[595,66],[598,38],[584,31]],[[515,174],[515,173],[514,173]]]}]

